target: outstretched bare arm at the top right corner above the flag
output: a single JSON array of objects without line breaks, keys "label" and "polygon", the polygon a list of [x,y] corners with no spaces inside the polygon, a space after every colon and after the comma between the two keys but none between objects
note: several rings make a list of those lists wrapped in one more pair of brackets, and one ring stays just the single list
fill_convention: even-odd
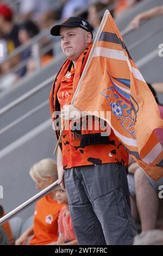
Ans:
[{"label": "outstretched bare arm at the top right corner above the flag", "polygon": [[138,14],[135,16],[133,20],[129,23],[127,27],[135,27],[136,29],[139,29],[140,22],[143,20],[148,20],[156,16],[163,15],[163,5],[154,7],[152,9],[149,9],[141,14]]}]

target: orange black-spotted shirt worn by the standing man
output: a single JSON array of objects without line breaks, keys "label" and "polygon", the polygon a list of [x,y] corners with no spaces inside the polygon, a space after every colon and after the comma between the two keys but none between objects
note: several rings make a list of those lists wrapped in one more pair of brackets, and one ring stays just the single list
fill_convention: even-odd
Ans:
[{"label": "orange black-spotted shirt worn by the standing man", "polygon": [[[68,70],[62,78],[57,92],[60,109],[64,105],[70,104],[72,100],[72,83],[74,76],[73,67]],[[88,145],[84,148],[80,146],[80,139],[73,139],[70,130],[65,130],[62,135],[62,161],[64,169],[85,166],[98,163],[122,163],[128,165],[128,153],[123,145],[111,130],[109,135],[110,144]]]}]

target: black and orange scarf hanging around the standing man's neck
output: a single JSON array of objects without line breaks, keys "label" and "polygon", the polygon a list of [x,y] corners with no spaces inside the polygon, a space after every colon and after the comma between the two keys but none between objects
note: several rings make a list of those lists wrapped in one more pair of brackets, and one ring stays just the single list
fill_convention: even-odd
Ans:
[{"label": "black and orange scarf hanging around the standing man's neck", "polygon": [[[73,78],[73,94],[76,91],[76,88],[78,86],[80,77],[82,75],[82,72],[84,70],[87,58],[89,57],[90,51],[92,48],[92,44],[85,49],[85,51],[80,55],[76,62],[76,70],[74,73],[74,78]],[[55,126],[55,132],[57,135],[57,139],[59,138],[60,135],[60,129],[59,127],[59,116],[53,116],[53,113],[55,111],[60,111],[60,104],[57,98],[57,92],[62,80],[62,77],[66,75],[66,72],[72,65],[72,61],[70,59],[66,59],[64,64],[62,64],[57,76],[54,79],[53,86],[51,89],[51,93],[49,95],[49,104],[51,107],[51,115],[52,115],[52,121]],[[89,117],[83,117],[79,120],[73,121],[73,126],[76,126],[77,129],[72,131],[72,136],[73,139],[79,139],[80,138],[80,147],[84,148],[86,145],[92,145],[92,144],[109,144],[109,137],[108,135],[106,136],[101,136],[101,132],[105,132],[104,130],[101,130],[100,128],[98,130],[95,130],[95,119],[96,117],[93,117],[93,122],[92,122],[92,130],[87,130],[87,125],[88,125],[88,120]],[[101,120],[100,120],[101,121]],[[100,122],[99,122],[100,123]],[[71,123],[72,124],[72,123]],[[80,125],[79,125],[80,124]],[[106,125],[106,123],[105,123]],[[80,129],[78,127],[80,126]],[[101,126],[99,126],[101,127]],[[60,148],[61,148],[61,143],[60,143]]]}]

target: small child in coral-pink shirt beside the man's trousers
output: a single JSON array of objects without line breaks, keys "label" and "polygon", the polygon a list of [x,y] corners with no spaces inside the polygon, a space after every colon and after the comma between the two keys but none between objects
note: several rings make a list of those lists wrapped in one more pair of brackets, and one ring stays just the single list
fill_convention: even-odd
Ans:
[{"label": "small child in coral-pink shirt beside the man's trousers", "polygon": [[58,217],[58,241],[57,245],[78,245],[76,235],[72,227],[70,209],[67,201],[66,191],[61,187],[55,190],[55,196],[59,204],[65,204]]}]

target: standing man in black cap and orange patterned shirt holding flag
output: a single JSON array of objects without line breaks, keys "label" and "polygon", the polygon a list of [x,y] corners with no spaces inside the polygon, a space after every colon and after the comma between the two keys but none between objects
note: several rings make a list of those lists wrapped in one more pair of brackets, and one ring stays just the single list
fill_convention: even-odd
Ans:
[{"label": "standing man in black cap and orange patterned shirt holding flag", "polygon": [[[87,113],[83,115],[79,109],[85,108],[87,104],[91,105],[91,102],[94,103],[95,95],[94,99],[89,95],[89,99],[87,98],[89,102],[85,104],[85,99],[80,97],[80,92],[76,97],[76,100],[78,96],[80,97],[80,103],[75,103],[76,107],[70,105],[76,95],[81,76],[85,72],[83,70],[89,63],[91,52],[93,52],[92,28],[82,17],[70,17],[61,25],[54,26],[51,29],[51,34],[60,35],[61,48],[67,57],[55,77],[49,96],[57,138],[59,138],[61,128],[56,113],[61,111],[61,118],[65,118],[66,109],[69,112],[77,111],[80,114],[78,119],[72,120],[73,123],[68,122],[70,129],[64,130],[57,159],[59,184],[62,187],[65,184],[66,187],[78,243],[79,245],[131,245],[136,235],[136,227],[130,212],[126,172],[128,153],[115,135],[114,129],[111,129],[108,135],[108,129],[106,129],[108,124],[104,129],[102,125],[95,129],[95,123],[102,124],[102,119],[105,120],[105,124],[108,123],[105,112],[110,109],[97,107],[98,111],[104,111],[102,119],[99,120],[95,115],[91,116]],[[101,35],[99,32],[97,34]],[[95,39],[95,41],[97,40]],[[95,42],[93,45],[96,46]],[[111,43],[111,45],[113,44]],[[98,69],[92,66],[86,72],[90,70],[94,77],[98,77],[98,73],[99,76],[101,75],[102,65],[103,60]],[[105,69],[102,71],[103,74],[106,72],[108,81],[111,80],[111,71],[112,67],[110,66],[106,71]],[[87,75],[85,74],[85,76]],[[102,88],[103,83],[104,80],[101,76],[94,83],[94,88],[90,82],[85,88],[85,96],[88,90],[95,94],[96,87],[101,88],[102,99],[100,102],[96,102],[101,106],[108,99]],[[114,105],[115,113],[121,112],[119,106]],[[86,111],[96,111],[96,104],[94,107],[93,109],[86,108]],[[89,129],[90,117],[93,120],[92,129]],[[72,129],[73,125],[80,129]]]}]

